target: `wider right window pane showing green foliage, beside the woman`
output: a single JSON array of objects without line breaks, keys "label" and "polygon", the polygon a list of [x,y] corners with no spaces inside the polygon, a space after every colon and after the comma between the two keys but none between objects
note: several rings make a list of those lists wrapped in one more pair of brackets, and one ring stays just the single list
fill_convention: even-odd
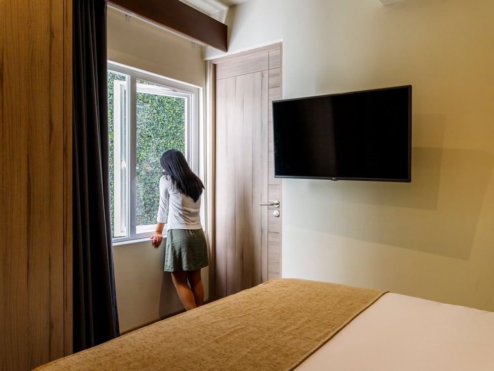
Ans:
[{"label": "wider right window pane showing green foliage, beside the woman", "polygon": [[137,81],[136,232],[152,231],[159,205],[159,159],[168,149],[186,153],[187,98]]}]

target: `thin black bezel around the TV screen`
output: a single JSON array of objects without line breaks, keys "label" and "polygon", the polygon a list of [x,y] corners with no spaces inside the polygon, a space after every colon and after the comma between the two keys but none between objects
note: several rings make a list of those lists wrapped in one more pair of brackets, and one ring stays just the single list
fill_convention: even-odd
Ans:
[{"label": "thin black bezel around the TV screen", "polygon": [[[355,93],[368,93],[368,92],[377,92],[382,90],[391,90],[391,89],[400,89],[400,88],[408,88],[409,91],[409,102],[408,102],[408,178],[407,179],[388,179],[388,178],[345,178],[345,177],[310,177],[310,176],[290,176],[290,175],[276,175],[276,161],[275,161],[275,103],[278,102],[288,102],[288,101],[296,101],[296,100],[305,100],[312,98],[324,98],[324,97],[333,97],[333,96],[341,96],[341,95],[349,95]],[[412,182],[412,85],[400,85],[396,87],[387,87],[387,88],[378,88],[378,89],[368,89],[368,90],[358,90],[352,92],[345,93],[334,93],[334,94],[325,94],[325,95],[314,95],[310,97],[300,97],[300,98],[290,98],[290,99],[277,99],[273,100],[271,103],[271,108],[273,112],[273,122],[272,122],[272,130],[273,130],[273,170],[274,177],[279,179],[326,179],[326,180],[360,180],[360,181],[370,181],[370,182],[397,182],[397,183],[411,183]]]}]

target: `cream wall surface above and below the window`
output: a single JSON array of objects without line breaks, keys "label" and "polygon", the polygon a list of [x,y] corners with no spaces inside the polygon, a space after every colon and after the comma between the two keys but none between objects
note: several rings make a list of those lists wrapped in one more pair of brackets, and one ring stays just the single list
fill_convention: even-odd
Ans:
[{"label": "cream wall surface above and below the window", "polygon": [[[203,47],[108,9],[108,59],[184,81],[201,88],[206,84]],[[201,123],[201,135],[203,125]],[[203,148],[201,146],[201,152]],[[201,167],[200,172],[204,171]],[[169,273],[163,272],[164,241],[116,245],[113,248],[120,331],[155,321],[182,310]],[[208,269],[202,270],[208,298]]]}]

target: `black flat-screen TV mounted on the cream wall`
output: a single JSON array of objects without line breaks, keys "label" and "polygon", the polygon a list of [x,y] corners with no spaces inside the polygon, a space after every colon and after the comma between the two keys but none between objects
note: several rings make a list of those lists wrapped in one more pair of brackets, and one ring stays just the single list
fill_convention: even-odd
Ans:
[{"label": "black flat-screen TV mounted on the cream wall", "polygon": [[412,87],[273,102],[276,178],[411,182]]}]

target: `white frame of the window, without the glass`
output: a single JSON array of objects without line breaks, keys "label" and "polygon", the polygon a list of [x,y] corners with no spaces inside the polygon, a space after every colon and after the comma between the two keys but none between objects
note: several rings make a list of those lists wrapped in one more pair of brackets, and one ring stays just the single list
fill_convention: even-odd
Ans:
[{"label": "white frame of the window, without the glass", "polygon": [[[128,117],[127,122],[125,123],[125,139],[126,139],[126,158],[125,162],[122,163],[120,157],[120,153],[116,153],[114,147],[114,183],[116,183],[117,177],[115,174],[117,171],[119,175],[121,174],[121,167],[125,166],[125,189],[122,195],[121,191],[121,181],[120,183],[114,186],[115,189],[120,193],[121,200],[126,200],[127,210],[125,211],[125,216],[122,220],[121,214],[119,221],[116,225],[122,225],[125,223],[125,236],[114,237],[113,242],[125,242],[135,239],[142,239],[149,237],[152,232],[142,232],[138,233],[138,226],[136,225],[136,145],[137,145],[137,93],[138,92],[149,92],[151,94],[161,94],[179,98],[185,98],[187,107],[186,107],[186,126],[185,126],[185,137],[186,137],[186,153],[185,156],[189,163],[191,169],[199,174],[199,110],[200,110],[200,93],[201,88],[194,86],[192,84],[183,83],[182,81],[174,80],[171,78],[167,78],[152,72],[143,71],[138,68],[129,67],[117,62],[108,61],[108,70],[112,72],[116,72],[119,74],[127,75],[127,83],[125,81],[118,81],[115,83],[114,88],[117,86],[125,86],[128,92],[128,105],[126,107],[127,112],[126,115]],[[145,80],[150,83],[160,85],[159,87],[153,85],[145,85],[145,84],[137,84],[137,80]],[[114,96],[115,96],[114,89]],[[119,92],[120,93],[120,90]],[[118,94],[117,93],[117,94]],[[116,101],[114,99],[114,101]],[[115,108],[121,107],[114,107]],[[121,112],[121,110],[119,110]],[[117,129],[118,130],[118,129]],[[118,133],[117,133],[118,134]],[[115,128],[114,128],[115,135]],[[116,136],[115,136],[116,138]],[[118,159],[118,162],[116,161]],[[117,164],[120,164],[120,168],[118,168]],[[159,169],[158,169],[159,171]],[[118,209],[122,209],[122,205],[119,200],[117,200],[116,193],[114,194],[114,209],[115,214]],[[116,217],[117,215],[115,215]],[[116,218],[114,218],[116,220]],[[115,225],[113,226],[115,228]],[[146,226],[139,226],[140,229],[144,229]],[[150,226],[148,226],[150,227]]]}]

